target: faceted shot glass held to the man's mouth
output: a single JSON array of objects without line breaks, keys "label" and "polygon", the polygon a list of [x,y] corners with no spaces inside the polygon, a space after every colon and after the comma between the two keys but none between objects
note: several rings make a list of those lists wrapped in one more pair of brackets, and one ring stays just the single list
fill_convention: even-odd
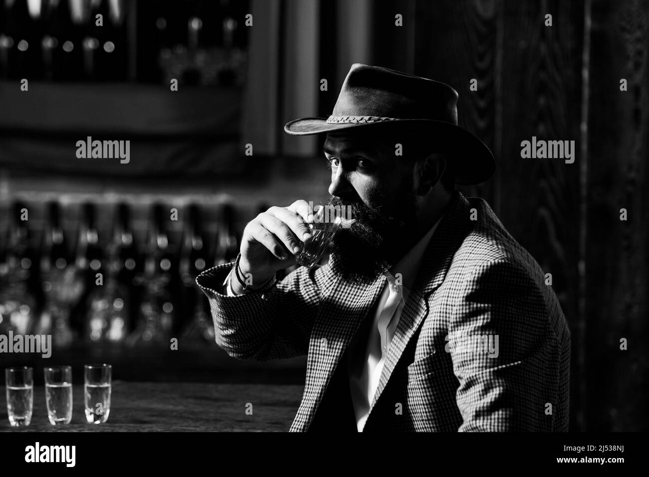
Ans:
[{"label": "faceted shot glass held to the man's mouth", "polygon": [[320,261],[336,233],[349,228],[356,219],[344,218],[334,207],[316,205],[313,207],[313,222],[308,224],[312,240],[304,246],[295,257],[297,264],[312,268]]}]

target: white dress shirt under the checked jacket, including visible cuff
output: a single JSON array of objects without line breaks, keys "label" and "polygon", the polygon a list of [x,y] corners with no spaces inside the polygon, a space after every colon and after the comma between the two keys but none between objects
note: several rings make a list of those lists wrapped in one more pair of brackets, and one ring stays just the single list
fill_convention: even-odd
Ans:
[{"label": "white dress shirt under the checked jacket, including visible cuff", "polygon": [[[384,287],[374,310],[374,320],[371,324],[367,341],[353,340],[350,343],[349,356],[349,388],[356,415],[358,432],[363,430],[369,409],[374,400],[379,378],[383,371],[392,337],[395,334],[401,310],[408,299],[408,292],[419,271],[421,258],[426,251],[428,242],[439,225],[441,218],[426,232],[413,248],[402,257],[389,272],[386,272]],[[395,275],[400,273],[401,286],[396,285]],[[228,296],[236,296],[232,290],[228,273],[223,286],[227,287]]]}]

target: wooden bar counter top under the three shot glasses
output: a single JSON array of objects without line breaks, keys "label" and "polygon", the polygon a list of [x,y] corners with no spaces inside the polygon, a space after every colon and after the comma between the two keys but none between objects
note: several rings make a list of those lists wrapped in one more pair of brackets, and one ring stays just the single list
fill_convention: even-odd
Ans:
[{"label": "wooden bar counter top under the three shot glasses", "polygon": [[[93,425],[86,423],[84,415],[83,384],[73,384],[72,421],[53,426],[47,420],[45,388],[34,386],[31,425],[12,428],[2,386],[0,432],[286,432],[303,388],[295,384],[118,380],[112,383],[108,421]],[[247,408],[252,413],[246,413]]]}]

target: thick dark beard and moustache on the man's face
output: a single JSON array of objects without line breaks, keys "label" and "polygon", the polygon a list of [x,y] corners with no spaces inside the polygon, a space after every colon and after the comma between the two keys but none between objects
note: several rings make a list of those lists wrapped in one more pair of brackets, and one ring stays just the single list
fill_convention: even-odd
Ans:
[{"label": "thick dark beard and moustache on the man's face", "polygon": [[[384,206],[368,207],[362,202],[347,202],[332,197],[327,205],[347,211],[351,207],[356,222],[334,237],[335,250],[329,266],[343,280],[356,285],[371,285],[387,272],[407,250],[409,237],[416,231],[415,194],[398,194],[392,213]],[[385,199],[384,199],[385,200]]]}]

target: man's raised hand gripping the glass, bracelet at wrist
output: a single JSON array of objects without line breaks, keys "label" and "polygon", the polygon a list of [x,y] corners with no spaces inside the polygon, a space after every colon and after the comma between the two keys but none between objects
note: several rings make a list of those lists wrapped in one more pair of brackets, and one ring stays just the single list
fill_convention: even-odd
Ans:
[{"label": "man's raised hand gripping the glass, bracelet at wrist", "polygon": [[[308,202],[297,200],[288,207],[271,207],[248,222],[241,238],[239,269],[244,280],[252,277],[250,288],[261,288],[277,270],[295,264],[302,245],[312,240],[310,212]],[[236,277],[230,283],[235,294],[245,293]]]}]

